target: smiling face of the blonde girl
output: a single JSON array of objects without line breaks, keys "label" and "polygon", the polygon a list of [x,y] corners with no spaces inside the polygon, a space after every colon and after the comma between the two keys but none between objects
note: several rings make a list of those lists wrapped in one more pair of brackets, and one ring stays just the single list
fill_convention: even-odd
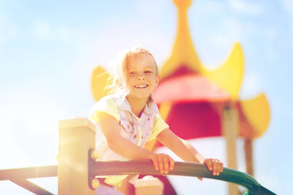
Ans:
[{"label": "smiling face of the blonde girl", "polygon": [[159,82],[158,68],[152,56],[135,54],[127,62],[129,95],[135,98],[148,98]]}]

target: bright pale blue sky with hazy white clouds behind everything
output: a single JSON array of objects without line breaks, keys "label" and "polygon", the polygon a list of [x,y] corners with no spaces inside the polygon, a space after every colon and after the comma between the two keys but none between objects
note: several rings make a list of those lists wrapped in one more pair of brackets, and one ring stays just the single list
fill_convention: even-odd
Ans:
[{"label": "bright pale blue sky with hazy white clouds behind everything", "polygon": [[[143,45],[161,66],[176,33],[171,0],[0,0],[0,169],[56,164],[57,121],[89,117],[93,68],[111,70],[116,54]],[[188,11],[196,52],[208,68],[220,66],[239,41],[245,55],[240,97],[264,92],[272,118],[255,140],[255,178],[277,194],[293,183],[293,2],[193,0]],[[291,56],[291,57],[290,57]],[[192,140],[206,157],[225,162],[222,138]],[[238,140],[239,170],[245,171]],[[172,154],[171,154],[172,155]],[[32,179],[57,194],[57,178]],[[224,182],[172,176],[182,194],[224,195]],[[212,188],[210,187],[212,186]],[[0,194],[30,195],[9,181]]]}]

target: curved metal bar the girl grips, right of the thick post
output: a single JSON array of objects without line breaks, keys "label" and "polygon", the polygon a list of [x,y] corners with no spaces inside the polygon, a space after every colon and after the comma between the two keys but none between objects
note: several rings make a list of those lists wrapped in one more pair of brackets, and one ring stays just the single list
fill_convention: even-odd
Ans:
[{"label": "curved metal bar the girl grips, right of the thick post", "polygon": [[[154,169],[151,161],[148,160],[136,160],[136,161],[107,161],[107,162],[90,162],[89,163],[89,176],[105,176],[105,175],[128,175],[128,174],[142,174],[142,175],[163,175],[159,171]],[[223,172],[219,176],[213,176],[212,172],[201,163],[191,162],[175,162],[174,169],[167,175],[174,176],[193,176],[193,177],[205,177],[210,179],[217,179],[234,183],[246,188],[249,195],[261,195],[261,190],[266,188],[262,187],[252,176],[233,170],[230,168],[224,168]],[[266,189],[267,190],[267,189]],[[264,195],[275,195],[269,193]]]}]

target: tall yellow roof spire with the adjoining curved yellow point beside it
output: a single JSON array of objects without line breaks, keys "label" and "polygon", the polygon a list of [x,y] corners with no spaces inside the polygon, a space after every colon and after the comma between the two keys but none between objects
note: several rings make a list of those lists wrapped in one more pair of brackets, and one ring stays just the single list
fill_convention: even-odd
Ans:
[{"label": "tall yellow roof spire with the adjoining curved yellow point beside it", "polygon": [[196,55],[188,29],[187,10],[191,0],[173,0],[173,2],[178,9],[178,29],[172,54],[162,66],[161,80],[176,71],[179,66],[186,65],[189,70],[217,83],[220,88],[230,94],[232,99],[238,98],[244,73],[244,57],[240,44],[235,44],[224,65],[216,70],[207,70]]}]

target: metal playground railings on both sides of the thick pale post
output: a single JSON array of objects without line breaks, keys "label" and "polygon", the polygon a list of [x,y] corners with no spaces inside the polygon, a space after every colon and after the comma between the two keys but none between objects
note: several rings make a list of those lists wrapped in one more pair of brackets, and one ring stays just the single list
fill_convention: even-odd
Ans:
[{"label": "metal playground railings on both sides of the thick pale post", "polygon": [[[10,170],[0,170],[0,180],[10,180],[21,187],[38,195],[53,195],[41,187],[26,180],[27,178],[40,178],[57,176],[57,165],[44,167],[30,167]],[[161,175],[153,167],[150,161],[110,161],[110,162],[91,162],[89,166],[89,185],[88,188],[94,190],[91,180],[95,176],[105,175]],[[193,176],[216,179],[231,182],[247,189],[246,195],[275,195],[270,190],[260,185],[253,177],[229,168],[224,168],[219,176],[213,176],[205,165],[190,162],[175,162],[174,169],[167,175],[173,176]],[[40,189],[39,189],[40,188]]]}]

